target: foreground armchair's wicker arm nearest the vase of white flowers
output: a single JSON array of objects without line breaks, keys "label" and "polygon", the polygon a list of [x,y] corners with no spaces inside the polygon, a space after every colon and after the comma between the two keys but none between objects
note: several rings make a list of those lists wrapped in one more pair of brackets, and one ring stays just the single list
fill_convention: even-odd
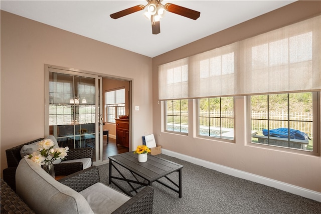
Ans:
[{"label": "foreground armchair's wicker arm nearest the vase of white flowers", "polygon": [[91,166],[61,178],[58,181],[66,186],[69,186],[75,191],[80,192],[81,190],[100,182],[98,167]]}]

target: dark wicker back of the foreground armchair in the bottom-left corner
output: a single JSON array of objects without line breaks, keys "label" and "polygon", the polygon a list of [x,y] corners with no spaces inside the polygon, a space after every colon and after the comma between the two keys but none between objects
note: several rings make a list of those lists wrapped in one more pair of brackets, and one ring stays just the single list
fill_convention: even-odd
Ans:
[{"label": "dark wicker back of the foreground armchair in the bottom-left corner", "polygon": [[2,178],[1,213],[35,213]]}]

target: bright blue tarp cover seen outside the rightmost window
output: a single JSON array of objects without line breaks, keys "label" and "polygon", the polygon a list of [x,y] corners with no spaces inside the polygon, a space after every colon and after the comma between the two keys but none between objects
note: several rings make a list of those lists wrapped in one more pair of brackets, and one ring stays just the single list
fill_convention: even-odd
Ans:
[{"label": "bright blue tarp cover seen outside the rightmost window", "polygon": [[[290,131],[290,139],[298,139],[298,140],[308,140],[309,137],[304,132],[295,129],[288,129],[288,128],[277,128],[270,130],[270,137],[281,137],[281,138],[288,138],[288,131]],[[262,129],[263,135],[268,135],[267,129]]]}]

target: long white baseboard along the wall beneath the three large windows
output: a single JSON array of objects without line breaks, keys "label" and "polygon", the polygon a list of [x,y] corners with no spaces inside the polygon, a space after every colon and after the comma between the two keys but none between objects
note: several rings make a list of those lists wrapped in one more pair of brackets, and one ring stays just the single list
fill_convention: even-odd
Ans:
[{"label": "long white baseboard along the wall beneath the three large windows", "polygon": [[204,166],[206,168],[213,169],[213,170],[216,170],[216,171],[228,174],[228,175],[232,175],[232,176],[243,178],[246,180],[250,180],[250,181],[253,181],[256,183],[271,186],[271,187],[274,187],[274,188],[277,188],[277,189],[280,189],[280,190],[283,190],[286,192],[290,192],[292,194],[300,195],[302,197],[306,197],[306,198],[321,202],[321,192],[316,192],[316,191],[305,189],[305,188],[302,188],[299,186],[294,186],[294,185],[291,185],[288,183],[280,182],[280,181],[266,178],[263,176],[259,176],[256,174],[248,173],[245,171],[233,169],[230,167],[226,167],[226,166],[223,166],[220,164],[212,163],[212,162],[202,160],[199,158],[191,157],[191,156],[188,156],[185,154],[173,152],[173,151],[163,149],[163,148],[162,148],[162,153],[172,156],[172,157],[176,157],[176,158],[188,161],[188,162],[191,162],[191,163],[194,163],[194,164],[197,164],[197,165],[200,165],[200,166]]}]

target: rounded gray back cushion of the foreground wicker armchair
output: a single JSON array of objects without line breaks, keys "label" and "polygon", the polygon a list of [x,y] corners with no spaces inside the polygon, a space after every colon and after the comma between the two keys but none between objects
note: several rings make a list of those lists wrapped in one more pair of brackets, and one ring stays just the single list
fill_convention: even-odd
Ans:
[{"label": "rounded gray back cushion of the foreground wicker armchair", "polygon": [[18,195],[36,213],[93,213],[86,199],[23,158],[16,171]]}]

